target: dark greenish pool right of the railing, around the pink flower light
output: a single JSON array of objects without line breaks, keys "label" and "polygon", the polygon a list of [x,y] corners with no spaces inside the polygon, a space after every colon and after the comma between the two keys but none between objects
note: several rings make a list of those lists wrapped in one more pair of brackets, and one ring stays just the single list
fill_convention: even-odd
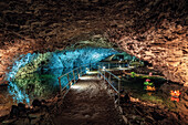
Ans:
[{"label": "dark greenish pool right of the railing, around the pink flower light", "polygon": [[[161,92],[159,91],[160,86],[166,82],[166,80],[160,77],[150,79],[150,81],[155,83],[156,91],[145,90],[145,84],[143,84],[145,81],[146,79],[122,76],[121,86],[122,90],[125,90],[125,92],[132,93],[133,97],[143,101],[150,101],[154,103],[163,103],[164,101],[166,101],[166,97],[164,97],[164,94],[161,94]],[[118,87],[117,81],[115,81],[113,84],[116,88]]]}]

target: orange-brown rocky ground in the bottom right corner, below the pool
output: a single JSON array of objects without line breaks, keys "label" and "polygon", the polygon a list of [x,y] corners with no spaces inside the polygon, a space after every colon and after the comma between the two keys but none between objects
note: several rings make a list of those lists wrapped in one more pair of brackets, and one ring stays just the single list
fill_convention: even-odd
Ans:
[{"label": "orange-brown rocky ground in the bottom right corner, below the pool", "polygon": [[122,104],[125,122],[133,125],[186,125],[187,116],[177,112],[152,104],[149,102],[136,101]]}]

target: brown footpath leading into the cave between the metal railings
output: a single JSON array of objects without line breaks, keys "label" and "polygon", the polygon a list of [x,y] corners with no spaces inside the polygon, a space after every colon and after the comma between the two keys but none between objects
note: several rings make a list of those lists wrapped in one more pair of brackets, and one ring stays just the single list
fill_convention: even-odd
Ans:
[{"label": "brown footpath leading into the cave between the metal railings", "polygon": [[74,84],[63,101],[55,125],[122,125],[107,94],[106,85],[96,75],[84,75]]}]

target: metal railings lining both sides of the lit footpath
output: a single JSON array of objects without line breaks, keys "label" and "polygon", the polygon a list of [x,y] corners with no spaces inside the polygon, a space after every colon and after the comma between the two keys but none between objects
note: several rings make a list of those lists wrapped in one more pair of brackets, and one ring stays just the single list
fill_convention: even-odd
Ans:
[{"label": "metal railings lining both sides of the lit footpath", "polygon": [[[70,91],[71,86],[73,84],[76,83],[76,81],[79,80],[79,77],[81,77],[83,74],[86,74],[87,70],[91,70],[95,64],[95,69],[98,70],[98,77],[100,75],[104,77],[104,82],[106,81],[111,87],[118,94],[118,105],[119,105],[119,90],[121,90],[121,79],[116,75],[114,75],[113,73],[111,73],[109,71],[106,71],[106,64],[108,66],[108,69],[112,67],[111,64],[113,63],[105,63],[105,62],[100,62],[100,63],[88,63],[88,64],[84,64],[80,67],[76,67],[61,76],[59,76],[59,85],[60,85],[60,94],[63,94],[63,97],[67,94],[67,92]],[[126,63],[121,63],[123,65],[125,65]],[[122,65],[122,67],[124,67]],[[117,67],[119,67],[119,64],[116,64]],[[114,66],[113,66],[114,67]],[[116,88],[113,85],[113,81],[112,77],[116,79],[118,81],[118,88]],[[63,82],[65,83],[65,85],[63,85],[64,87],[62,88],[62,79]]]}]

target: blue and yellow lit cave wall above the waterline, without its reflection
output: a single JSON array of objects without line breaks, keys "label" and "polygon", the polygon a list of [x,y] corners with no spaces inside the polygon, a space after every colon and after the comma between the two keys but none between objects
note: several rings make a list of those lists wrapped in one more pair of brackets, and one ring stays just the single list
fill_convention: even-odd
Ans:
[{"label": "blue and yellow lit cave wall above the waterline, without its reflection", "polygon": [[76,66],[98,62],[112,54],[117,53],[113,49],[81,49],[75,51],[59,51],[46,53],[29,53],[21,55],[21,60],[15,61],[12,71],[9,73],[10,79],[22,77],[25,74],[36,71],[49,71],[50,69],[72,70]]}]

